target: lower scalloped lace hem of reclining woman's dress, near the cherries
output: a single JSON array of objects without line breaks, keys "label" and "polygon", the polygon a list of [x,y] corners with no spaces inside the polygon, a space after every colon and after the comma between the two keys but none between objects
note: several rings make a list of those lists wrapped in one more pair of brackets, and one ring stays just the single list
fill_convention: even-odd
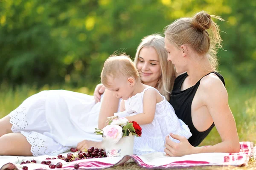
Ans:
[{"label": "lower scalloped lace hem of reclining woman's dress, near the cherries", "polygon": [[[58,155],[59,153],[64,153],[67,150],[70,149],[70,147],[64,147],[61,150],[52,150],[52,148],[49,148],[47,146],[47,144],[49,145],[49,143],[52,143],[54,141],[49,141],[52,140],[49,138],[49,140],[47,141],[47,139],[44,139],[42,134],[37,133],[37,132],[33,132],[33,131],[20,131],[20,133],[26,137],[27,141],[29,142],[29,144],[31,144],[31,153],[33,156],[41,156],[41,155]],[[47,136],[46,136],[47,137]],[[57,143],[56,143],[57,144]],[[60,144],[58,144],[60,145]],[[59,148],[59,147],[58,147]]]}]

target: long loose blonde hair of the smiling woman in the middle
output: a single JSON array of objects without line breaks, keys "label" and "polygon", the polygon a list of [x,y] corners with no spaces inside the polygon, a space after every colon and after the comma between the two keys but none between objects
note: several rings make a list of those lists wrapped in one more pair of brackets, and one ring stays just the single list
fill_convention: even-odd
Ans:
[{"label": "long loose blonde hair of the smiling woman in the middle", "polygon": [[165,96],[166,100],[169,100],[170,92],[172,91],[175,80],[175,68],[171,62],[167,62],[167,53],[164,48],[164,37],[160,34],[152,34],[142,39],[134,58],[136,68],[139,61],[140,50],[143,47],[153,47],[157,51],[161,68],[161,76],[154,88],[157,88],[160,94]]}]

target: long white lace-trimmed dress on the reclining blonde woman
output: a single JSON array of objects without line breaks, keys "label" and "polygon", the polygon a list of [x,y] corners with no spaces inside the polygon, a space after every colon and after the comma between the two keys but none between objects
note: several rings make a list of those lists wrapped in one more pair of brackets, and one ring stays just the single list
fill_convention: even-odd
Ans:
[{"label": "long white lace-trimmed dress on the reclining blonde woman", "polygon": [[26,137],[33,156],[57,155],[84,139],[102,140],[93,133],[100,107],[93,96],[50,90],[30,96],[9,116],[12,131]]}]

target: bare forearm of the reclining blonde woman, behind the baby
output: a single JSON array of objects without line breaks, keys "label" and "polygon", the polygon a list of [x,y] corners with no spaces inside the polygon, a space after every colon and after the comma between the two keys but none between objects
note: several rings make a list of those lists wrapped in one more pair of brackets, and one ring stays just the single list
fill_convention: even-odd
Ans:
[{"label": "bare forearm of the reclining blonde woman, behind the baby", "polygon": [[103,129],[106,126],[107,118],[114,116],[117,112],[119,106],[119,99],[113,96],[111,91],[107,89],[104,92],[104,97],[102,99],[101,108],[99,111],[99,122],[98,128]]}]

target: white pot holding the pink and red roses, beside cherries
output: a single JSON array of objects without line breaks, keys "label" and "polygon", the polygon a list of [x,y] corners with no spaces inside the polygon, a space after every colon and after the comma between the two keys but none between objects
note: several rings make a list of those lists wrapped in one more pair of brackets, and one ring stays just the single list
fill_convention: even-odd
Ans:
[{"label": "white pot holding the pink and red roses, beside cherries", "polygon": [[134,136],[124,136],[116,144],[103,138],[107,157],[133,155]]}]

